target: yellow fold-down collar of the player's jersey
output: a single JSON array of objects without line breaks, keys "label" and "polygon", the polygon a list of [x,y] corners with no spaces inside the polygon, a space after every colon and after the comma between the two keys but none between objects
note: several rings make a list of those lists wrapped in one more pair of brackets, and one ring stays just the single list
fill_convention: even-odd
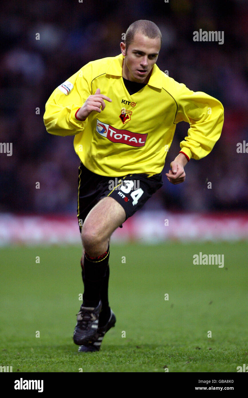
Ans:
[{"label": "yellow fold-down collar of the player's jersey", "polygon": [[[107,73],[112,76],[122,76],[122,63],[123,63],[124,56],[122,54],[113,57],[112,61],[109,64],[107,69]],[[148,86],[162,88],[162,74],[161,70],[158,68],[156,64],[154,64],[152,68],[152,74],[148,81]]]}]

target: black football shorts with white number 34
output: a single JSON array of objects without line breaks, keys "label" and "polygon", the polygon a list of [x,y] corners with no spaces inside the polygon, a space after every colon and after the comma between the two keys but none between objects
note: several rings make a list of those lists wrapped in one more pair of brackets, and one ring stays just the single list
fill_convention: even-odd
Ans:
[{"label": "black football shorts with white number 34", "polygon": [[[113,197],[131,217],[163,185],[162,173],[127,174],[122,177],[104,177],[92,173],[81,162],[78,169],[78,225],[103,197]],[[122,224],[120,225],[122,227]]]}]

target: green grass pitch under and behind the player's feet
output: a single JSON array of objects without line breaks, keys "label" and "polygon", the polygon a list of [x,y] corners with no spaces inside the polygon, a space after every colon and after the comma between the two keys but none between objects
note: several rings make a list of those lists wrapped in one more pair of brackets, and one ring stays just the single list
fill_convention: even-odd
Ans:
[{"label": "green grass pitch under and behind the player's feet", "polygon": [[[199,252],[224,254],[224,267],[193,265]],[[236,372],[248,365],[247,253],[248,242],[111,244],[117,323],[100,352],[78,353],[80,246],[1,248],[0,365],[13,372]]]}]

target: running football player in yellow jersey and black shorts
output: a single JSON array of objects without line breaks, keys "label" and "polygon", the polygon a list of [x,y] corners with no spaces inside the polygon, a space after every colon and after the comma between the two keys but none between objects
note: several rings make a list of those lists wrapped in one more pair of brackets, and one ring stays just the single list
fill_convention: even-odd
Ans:
[{"label": "running football player in yellow jersey and black shorts", "polygon": [[73,339],[82,352],[99,351],[115,325],[108,301],[109,240],[162,186],[177,123],[186,121],[189,129],[166,173],[173,184],[185,180],[187,162],[209,154],[221,135],[223,105],[158,68],[161,41],[155,23],[135,21],[120,44],[121,54],[89,62],[46,103],[47,131],[74,135],[80,158],[84,294]]}]

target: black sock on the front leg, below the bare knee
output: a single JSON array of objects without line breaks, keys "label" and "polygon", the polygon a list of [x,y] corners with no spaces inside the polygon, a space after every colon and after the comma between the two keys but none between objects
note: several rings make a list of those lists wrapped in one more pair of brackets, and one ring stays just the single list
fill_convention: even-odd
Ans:
[{"label": "black sock on the front leg, below the bare knee", "polygon": [[[84,294],[83,306],[96,307],[101,298],[101,289],[103,279],[106,277],[106,271],[109,262],[109,245],[107,251],[98,257],[90,257],[87,253],[84,254]],[[103,295],[104,303],[106,304],[106,295]]]}]

